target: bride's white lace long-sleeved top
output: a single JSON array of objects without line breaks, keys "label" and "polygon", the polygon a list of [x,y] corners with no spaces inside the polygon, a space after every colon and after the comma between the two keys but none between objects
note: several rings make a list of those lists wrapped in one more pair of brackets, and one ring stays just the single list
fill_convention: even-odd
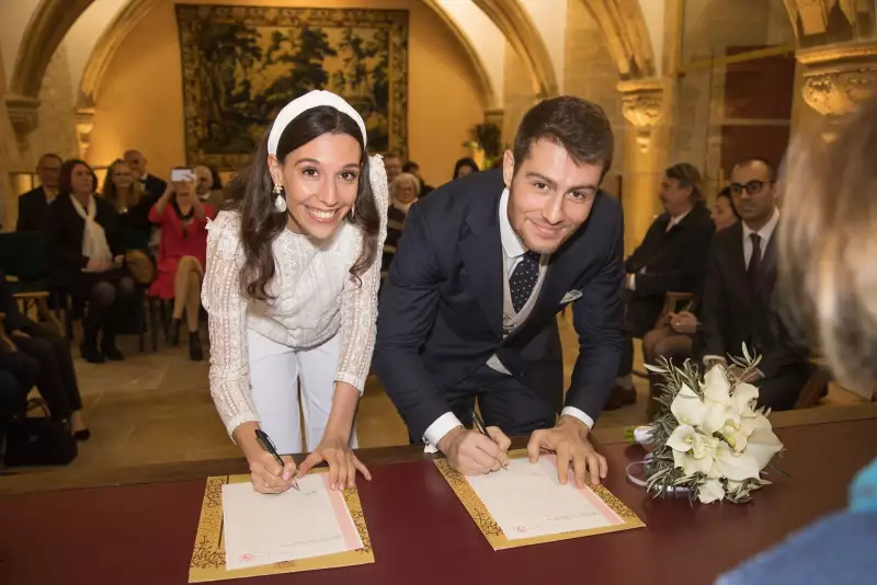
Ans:
[{"label": "bride's white lace long-sleeved top", "polygon": [[377,320],[380,254],[387,236],[387,175],[380,157],[369,175],[380,215],[375,261],[357,282],[350,268],[360,255],[358,228],[344,222],[327,242],[284,230],[273,243],[276,274],[267,291],[276,298],[255,301],[240,289],[244,255],[240,216],[221,211],[207,226],[207,267],[202,302],[210,334],[210,394],[231,434],[259,421],[250,388],[247,330],[294,348],[311,348],[341,332],[337,381],[363,391],[372,364]]}]

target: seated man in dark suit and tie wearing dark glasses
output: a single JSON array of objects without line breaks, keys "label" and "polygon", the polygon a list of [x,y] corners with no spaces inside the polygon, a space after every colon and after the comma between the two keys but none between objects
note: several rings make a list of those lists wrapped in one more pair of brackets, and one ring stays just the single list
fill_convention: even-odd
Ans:
[{"label": "seated man in dark suit and tie wearing dark glasses", "polygon": [[808,352],[795,343],[777,311],[776,168],[762,159],[739,163],[731,173],[731,195],[741,222],[716,234],[709,250],[699,331],[704,363],[726,363],[727,355],[762,356],[748,380],[760,388],[759,405],[795,406],[810,375]]}]

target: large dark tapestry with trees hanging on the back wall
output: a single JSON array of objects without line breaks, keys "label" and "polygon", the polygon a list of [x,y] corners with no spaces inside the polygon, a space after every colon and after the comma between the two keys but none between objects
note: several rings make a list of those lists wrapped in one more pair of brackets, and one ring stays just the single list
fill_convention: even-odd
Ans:
[{"label": "large dark tapestry with trees hanging on the back wall", "polygon": [[408,12],[178,4],[186,159],[239,168],[311,90],[362,114],[371,152],[408,142]]}]

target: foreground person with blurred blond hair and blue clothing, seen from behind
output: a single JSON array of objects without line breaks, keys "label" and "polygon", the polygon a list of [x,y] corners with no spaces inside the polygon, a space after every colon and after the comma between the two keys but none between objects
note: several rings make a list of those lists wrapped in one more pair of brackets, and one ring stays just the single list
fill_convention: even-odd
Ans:
[{"label": "foreground person with blurred blond hair and blue clothing, seen from behind", "polygon": [[[804,136],[789,148],[778,230],[785,298],[847,388],[877,382],[877,100],[830,146]],[[831,457],[832,455],[828,455]],[[850,504],[720,577],[718,585],[858,585],[877,575],[877,460],[850,487]]]}]

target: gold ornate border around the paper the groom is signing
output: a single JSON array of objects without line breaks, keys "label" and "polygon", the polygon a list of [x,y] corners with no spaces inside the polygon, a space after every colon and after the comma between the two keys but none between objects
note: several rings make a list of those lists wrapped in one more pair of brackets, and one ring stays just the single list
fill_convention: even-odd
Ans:
[{"label": "gold ornate border around the paper the groom is signing", "polygon": [[[526,457],[526,451],[511,451],[509,456],[512,459],[520,459]],[[472,520],[475,520],[475,524],[478,526],[478,529],[481,530],[481,534],[485,535],[487,541],[491,547],[493,547],[493,550],[514,549],[517,547],[528,547],[531,544],[557,542],[559,540],[569,540],[571,538],[589,537],[594,535],[603,535],[606,532],[617,532],[619,530],[630,530],[634,528],[646,527],[646,524],[640,520],[634,511],[627,507],[624,502],[615,497],[604,486],[599,485],[596,487],[589,487],[596,494],[597,497],[600,497],[600,500],[603,501],[604,504],[606,504],[624,520],[624,524],[606,526],[603,528],[593,528],[591,530],[576,530],[572,532],[561,532],[559,535],[510,540],[505,538],[505,535],[502,532],[499,524],[497,524],[497,520],[494,520],[493,516],[490,515],[487,506],[483,502],[481,502],[481,498],[478,497],[478,494],[475,493],[475,490],[472,490],[471,485],[469,485],[469,482],[466,480],[466,478],[458,471],[451,469],[451,466],[446,459],[435,459],[434,462],[435,467],[438,469],[438,472],[442,473],[442,475],[445,478],[445,481],[447,481],[448,485],[451,485],[451,489],[454,490],[455,494],[457,494],[460,503],[472,517]]]}]

